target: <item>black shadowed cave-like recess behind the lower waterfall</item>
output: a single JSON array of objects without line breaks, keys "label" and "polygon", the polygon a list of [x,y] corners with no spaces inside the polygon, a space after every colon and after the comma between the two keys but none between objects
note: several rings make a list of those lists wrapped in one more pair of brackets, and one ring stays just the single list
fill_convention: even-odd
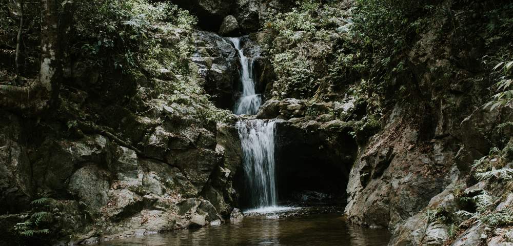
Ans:
[{"label": "black shadowed cave-like recess behind the lower waterfall", "polygon": [[[280,206],[345,206],[346,187],[358,146],[349,130],[305,130],[288,122],[277,124],[275,167]],[[249,208],[244,171],[235,189],[239,206]]]}]

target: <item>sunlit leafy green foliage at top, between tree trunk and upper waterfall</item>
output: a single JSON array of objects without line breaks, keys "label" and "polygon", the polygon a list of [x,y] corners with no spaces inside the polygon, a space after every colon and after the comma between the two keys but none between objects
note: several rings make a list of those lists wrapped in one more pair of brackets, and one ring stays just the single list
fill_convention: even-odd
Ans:
[{"label": "sunlit leafy green foliage at top, between tree trunk and upper waterfall", "polygon": [[159,37],[153,30],[167,20],[191,30],[195,18],[175,5],[146,0],[92,0],[76,4],[74,52],[92,58],[97,66],[128,69],[158,55]]}]

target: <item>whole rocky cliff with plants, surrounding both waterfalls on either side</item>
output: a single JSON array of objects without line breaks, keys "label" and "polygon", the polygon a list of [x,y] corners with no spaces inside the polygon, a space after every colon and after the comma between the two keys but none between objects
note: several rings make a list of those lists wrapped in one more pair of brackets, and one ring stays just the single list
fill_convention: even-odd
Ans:
[{"label": "whole rocky cliff with plants, surrounding both waterfalls on either side", "polygon": [[[221,223],[244,203],[234,122],[256,117],[280,119],[283,200],[345,206],[348,220],[388,228],[389,245],[511,243],[511,221],[455,214],[480,212],[484,191],[497,199],[481,214],[506,214],[513,200],[504,169],[513,160],[511,108],[483,109],[497,79],[489,64],[511,49],[512,32],[494,16],[510,14],[510,4],[415,5],[401,16],[404,36],[378,35],[402,48],[380,50],[372,35],[356,35],[371,33],[361,1],[172,2],[198,25],[152,23],[156,64],[120,73],[66,57],[57,109],[1,110],[5,235],[48,230],[65,239],[45,243],[91,243]],[[497,26],[506,31],[494,34]],[[255,116],[227,111],[241,85],[226,36],[244,36],[255,60],[265,99]],[[476,159],[484,164],[471,166]]]}]

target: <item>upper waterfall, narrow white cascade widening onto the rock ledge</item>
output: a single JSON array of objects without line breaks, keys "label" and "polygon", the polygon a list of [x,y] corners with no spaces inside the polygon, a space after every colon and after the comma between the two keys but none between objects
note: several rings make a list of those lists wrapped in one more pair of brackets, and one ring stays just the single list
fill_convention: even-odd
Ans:
[{"label": "upper waterfall, narrow white cascade widening onto the rock ledge", "polygon": [[253,58],[246,57],[241,48],[241,39],[239,37],[231,37],[230,41],[239,52],[241,60],[241,82],[242,82],[242,96],[235,104],[234,113],[241,114],[257,114],[262,98],[255,92],[255,83],[253,75]]}]

